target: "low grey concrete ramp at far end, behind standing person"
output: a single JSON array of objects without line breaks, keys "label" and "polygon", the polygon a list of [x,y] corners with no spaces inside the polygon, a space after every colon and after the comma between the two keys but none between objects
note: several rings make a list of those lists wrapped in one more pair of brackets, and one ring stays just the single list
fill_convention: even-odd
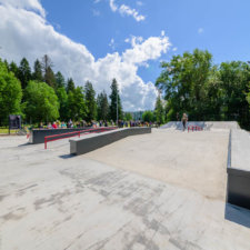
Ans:
[{"label": "low grey concrete ramp at far end, behind standing person", "polygon": [[[213,129],[240,129],[237,121],[189,121],[188,126],[199,126],[203,130],[213,130]],[[181,121],[170,121],[160,127],[161,129],[176,129],[182,130]]]}]

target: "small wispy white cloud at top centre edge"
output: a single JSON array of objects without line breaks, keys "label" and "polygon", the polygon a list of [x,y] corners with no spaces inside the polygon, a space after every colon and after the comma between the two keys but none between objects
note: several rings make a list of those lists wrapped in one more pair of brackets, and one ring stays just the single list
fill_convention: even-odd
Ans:
[{"label": "small wispy white cloud at top centre edge", "polygon": [[132,9],[126,4],[121,4],[120,7],[118,7],[114,1],[116,0],[109,0],[109,6],[113,12],[119,11],[121,16],[131,16],[138,22],[143,21],[146,19],[146,17],[139,14],[139,12],[136,9]]}]

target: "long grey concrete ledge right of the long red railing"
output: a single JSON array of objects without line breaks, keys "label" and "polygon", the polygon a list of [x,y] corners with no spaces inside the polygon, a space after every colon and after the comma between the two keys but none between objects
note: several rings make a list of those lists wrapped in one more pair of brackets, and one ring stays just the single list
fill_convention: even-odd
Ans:
[{"label": "long grey concrete ledge right of the long red railing", "polygon": [[129,136],[151,133],[151,128],[128,128],[102,132],[100,134],[88,134],[84,138],[70,140],[70,153],[83,154]]}]

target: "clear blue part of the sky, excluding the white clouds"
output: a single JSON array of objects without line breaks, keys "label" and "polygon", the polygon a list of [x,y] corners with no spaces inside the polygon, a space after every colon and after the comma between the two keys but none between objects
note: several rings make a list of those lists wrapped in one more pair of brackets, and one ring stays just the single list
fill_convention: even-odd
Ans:
[{"label": "clear blue part of the sky, excluding the white clouds", "polygon": [[[47,19],[59,32],[84,43],[94,57],[104,57],[113,50],[122,52],[130,34],[143,38],[159,36],[164,30],[172,48],[161,59],[169,60],[174,53],[208,49],[216,63],[229,60],[249,60],[250,1],[248,0],[120,0],[146,17],[137,22],[110,10],[107,0],[42,0]],[[138,4],[139,3],[139,4]],[[160,72],[159,60],[149,68],[140,68],[144,80],[154,81]]]}]

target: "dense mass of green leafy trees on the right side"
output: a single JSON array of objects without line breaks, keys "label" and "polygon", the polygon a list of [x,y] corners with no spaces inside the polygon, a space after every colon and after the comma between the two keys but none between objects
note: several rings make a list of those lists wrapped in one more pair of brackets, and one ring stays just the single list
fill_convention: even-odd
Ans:
[{"label": "dense mass of green leafy trees on the right side", "polygon": [[162,62],[156,81],[166,99],[167,121],[183,112],[189,120],[231,121],[250,129],[250,66],[231,61],[213,64],[212,54],[196,49]]}]

